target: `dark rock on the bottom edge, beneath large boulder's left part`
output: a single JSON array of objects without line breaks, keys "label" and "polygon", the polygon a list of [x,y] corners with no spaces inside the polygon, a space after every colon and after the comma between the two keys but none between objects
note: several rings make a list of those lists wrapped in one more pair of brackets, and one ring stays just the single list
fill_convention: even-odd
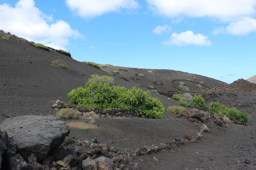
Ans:
[{"label": "dark rock on the bottom edge, beneath large boulder's left part", "polygon": [[30,164],[26,163],[20,154],[9,157],[10,170],[32,170]]}]

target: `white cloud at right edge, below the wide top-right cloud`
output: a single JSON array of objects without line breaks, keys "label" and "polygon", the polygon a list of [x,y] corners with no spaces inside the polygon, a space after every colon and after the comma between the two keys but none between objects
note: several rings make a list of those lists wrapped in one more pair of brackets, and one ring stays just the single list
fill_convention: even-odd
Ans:
[{"label": "white cloud at right edge, below the wide top-right cloud", "polygon": [[246,35],[251,32],[256,32],[256,19],[243,18],[237,22],[230,23],[226,28],[216,28],[212,34],[232,34],[232,35]]}]

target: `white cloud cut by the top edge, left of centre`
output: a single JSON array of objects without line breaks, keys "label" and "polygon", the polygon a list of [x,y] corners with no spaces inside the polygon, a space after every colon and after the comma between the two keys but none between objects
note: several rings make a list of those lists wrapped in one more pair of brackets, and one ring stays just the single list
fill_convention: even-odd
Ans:
[{"label": "white cloud cut by the top edge, left of centre", "polygon": [[135,0],[66,0],[66,3],[71,11],[86,19],[121,8],[135,9],[139,6]]}]

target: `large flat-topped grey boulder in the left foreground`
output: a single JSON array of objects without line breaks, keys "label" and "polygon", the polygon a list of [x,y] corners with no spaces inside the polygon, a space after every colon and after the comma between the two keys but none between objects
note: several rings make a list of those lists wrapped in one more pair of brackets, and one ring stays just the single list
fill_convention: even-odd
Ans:
[{"label": "large flat-topped grey boulder in the left foreground", "polygon": [[38,161],[60,146],[70,133],[69,127],[53,116],[17,116],[6,119],[1,127],[8,132],[17,153],[25,159],[35,153]]}]

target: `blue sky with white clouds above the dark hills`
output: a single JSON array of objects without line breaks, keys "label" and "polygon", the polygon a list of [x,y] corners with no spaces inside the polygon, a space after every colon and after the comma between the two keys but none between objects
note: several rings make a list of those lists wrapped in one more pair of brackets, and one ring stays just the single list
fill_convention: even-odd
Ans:
[{"label": "blue sky with white clouds above the dark hills", "polygon": [[231,83],[256,74],[256,0],[0,0],[0,29],[73,59]]}]

